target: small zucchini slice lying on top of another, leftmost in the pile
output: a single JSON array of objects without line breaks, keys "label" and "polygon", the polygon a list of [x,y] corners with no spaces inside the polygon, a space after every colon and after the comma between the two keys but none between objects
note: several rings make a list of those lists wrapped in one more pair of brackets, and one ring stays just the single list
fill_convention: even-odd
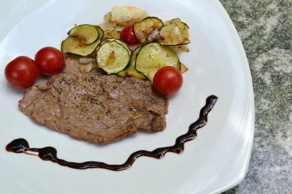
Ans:
[{"label": "small zucchini slice lying on top of another, leftmost in the pile", "polygon": [[75,26],[68,32],[68,35],[77,38],[86,45],[91,45],[99,38],[99,32],[97,28],[89,24]]}]

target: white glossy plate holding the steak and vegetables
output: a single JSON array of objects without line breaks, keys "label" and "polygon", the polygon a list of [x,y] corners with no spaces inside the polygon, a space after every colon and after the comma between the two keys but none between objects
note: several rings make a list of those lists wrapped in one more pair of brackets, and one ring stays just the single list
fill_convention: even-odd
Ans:
[{"label": "white glossy plate holding the steak and vegetables", "polygon": [[[190,27],[190,51],[179,53],[189,71],[183,75],[182,90],[169,97],[167,128],[95,145],[38,125],[21,113],[23,91],[5,81],[5,65],[19,55],[34,58],[45,46],[60,48],[75,23],[101,23],[118,5],[140,7],[163,20],[180,17]],[[252,80],[236,29],[218,0],[13,0],[1,3],[0,28],[1,194],[211,194],[244,178],[254,134]],[[125,171],[74,170],[4,149],[21,137],[32,147],[54,146],[64,160],[123,163],[136,150],[173,145],[197,120],[209,95],[219,100],[183,154],[167,153],[162,160],[142,157]]]}]

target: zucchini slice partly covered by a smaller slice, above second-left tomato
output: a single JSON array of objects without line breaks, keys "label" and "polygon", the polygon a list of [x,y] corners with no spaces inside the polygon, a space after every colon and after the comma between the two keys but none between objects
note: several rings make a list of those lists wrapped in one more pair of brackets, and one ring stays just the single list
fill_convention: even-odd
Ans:
[{"label": "zucchini slice partly covered by a smaller slice, above second-left tomato", "polygon": [[88,55],[91,55],[94,50],[97,48],[97,46],[101,43],[101,40],[103,38],[103,30],[99,27],[95,27],[99,32],[99,38],[97,41],[95,41],[91,45],[86,45],[82,43],[80,40],[78,40],[75,37],[69,36],[65,40],[63,40],[61,44],[61,51],[65,54],[73,54],[77,56],[83,56],[86,57]]}]

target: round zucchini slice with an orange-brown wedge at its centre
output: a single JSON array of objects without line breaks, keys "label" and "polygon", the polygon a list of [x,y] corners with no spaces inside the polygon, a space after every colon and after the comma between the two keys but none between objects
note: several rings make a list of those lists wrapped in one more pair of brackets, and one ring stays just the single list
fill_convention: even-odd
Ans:
[{"label": "round zucchini slice with an orange-brown wedge at its centre", "polygon": [[130,55],[117,41],[106,41],[96,50],[96,62],[108,74],[119,73],[128,66]]}]

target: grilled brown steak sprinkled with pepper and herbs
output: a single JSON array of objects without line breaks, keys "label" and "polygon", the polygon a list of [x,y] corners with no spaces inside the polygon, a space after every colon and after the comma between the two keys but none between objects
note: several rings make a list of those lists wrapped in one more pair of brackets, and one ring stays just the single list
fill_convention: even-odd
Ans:
[{"label": "grilled brown steak sprinkled with pepper and herbs", "polygon": [[95,143],[118,140],[138,129],[166,126],[168,100],[153,85],[136,78],[81,73],[78,60],[65,60],[64,74],[40,82],[18,102],[37,123]]}]

